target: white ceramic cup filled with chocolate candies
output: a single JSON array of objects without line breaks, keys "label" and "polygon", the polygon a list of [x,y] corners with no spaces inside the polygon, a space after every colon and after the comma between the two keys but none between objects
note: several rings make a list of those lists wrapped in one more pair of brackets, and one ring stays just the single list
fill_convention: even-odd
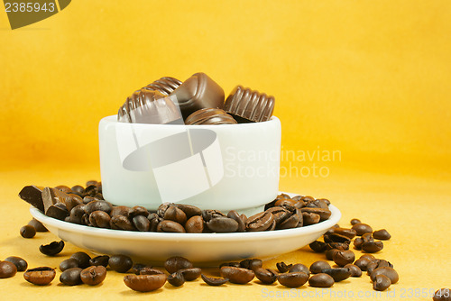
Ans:
[{"label": "white ceramic cup filled with chocolate candies", "polygon": [[155,210],[164,202],[254,214],[279,191],[281,122],[99,123],[103,196]]}]

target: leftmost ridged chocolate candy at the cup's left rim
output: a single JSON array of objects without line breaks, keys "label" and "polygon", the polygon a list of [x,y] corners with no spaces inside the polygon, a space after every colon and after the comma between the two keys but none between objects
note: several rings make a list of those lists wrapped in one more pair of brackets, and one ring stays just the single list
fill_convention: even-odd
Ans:
[{"label": "leftmost ridged chocolate candy at the cup's left rim", "polygon": [[181,116],[170,97],[142,88],[134,91],[119,108],[117,120],[122,123],[181,123]]}]

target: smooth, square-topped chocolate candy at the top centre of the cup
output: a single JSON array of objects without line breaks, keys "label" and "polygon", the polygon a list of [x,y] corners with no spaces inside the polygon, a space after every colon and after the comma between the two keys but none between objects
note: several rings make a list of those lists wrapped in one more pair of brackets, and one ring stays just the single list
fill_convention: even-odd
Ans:
[{"label": "smooth, square-topped chocolate candy at the top centre of the cup", "polygon": [[170,94],[176,96],[183,119],[204,108],[221,109],[224,106],[224,90],[205,73],[196,73]]}]

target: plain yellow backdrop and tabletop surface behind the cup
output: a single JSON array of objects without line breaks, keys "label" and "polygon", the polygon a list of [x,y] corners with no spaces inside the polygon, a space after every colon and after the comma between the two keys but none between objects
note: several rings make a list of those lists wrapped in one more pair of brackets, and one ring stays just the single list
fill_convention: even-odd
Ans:
[{"label": "plain yellow backdrop and tabletop surface behind the cup", "polygon": [[[184,80],[203,71],[226,94],[242,84],[276,97],[281,190],[329,198],[342,210],[343,226],[359,217],[392,234],[377,256],[395,265],[400,283],[382,299],[450,287],[449,15],[447,0],[78,0],[11,31],[0,13],[0,259],[18,255],[32,267],[56,267],[78,251],[69,244],[62,256],[46,258],[37,248],[55,236],[21,238],[19,228],[30,215],[17,193],[30,184],[100,178],[100,118],[115,114],[127,95],[154,79]],[[320,259],[302,249],[265,266]],[[206,287],[198,280],[147,296],[129,290],[115,272],[101,287],[61,287],[58,279],[32,287],[22,275],[0,279],[0,287],[5,299],[19,299],[20,292],[22,299],[49,300],[93,293],[252,300],[265,292],[314,292],[256,281]],[[345,291],[373,292],[366,276],[328,292]]]}]

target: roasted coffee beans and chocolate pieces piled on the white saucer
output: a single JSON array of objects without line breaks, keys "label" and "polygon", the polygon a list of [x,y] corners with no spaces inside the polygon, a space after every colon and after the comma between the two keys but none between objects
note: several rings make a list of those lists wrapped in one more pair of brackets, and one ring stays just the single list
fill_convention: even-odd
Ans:
[{"label": "roasted coffee beans and chocolate pieces piled on the white saucer", "polygon": [[[23,187],[19,196],[42,213],[92,227],[161,233],[244,233],[283,230],[327,220],[330,202],[312,196],[281,194],[264,211],[247,217],[235,210],[201,210],[194,205],[164,203],[155,212],[143,206],[112,205],[102,196],[102,184],[87,181],[87,187]],[[30,229],[29,229],[30,228]],[[32,226],[21,229],[23,237],[34,236]]]}]

